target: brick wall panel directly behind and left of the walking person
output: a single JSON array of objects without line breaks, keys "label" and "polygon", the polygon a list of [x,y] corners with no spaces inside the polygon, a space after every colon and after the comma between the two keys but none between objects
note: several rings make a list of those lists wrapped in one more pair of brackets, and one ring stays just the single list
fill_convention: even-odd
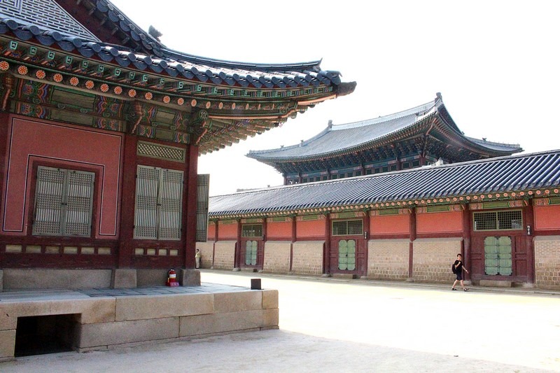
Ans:
[{"label": "brick wall panel directly behind and left of the walking person", "polygon": [[451,264],[461,253],[461,241],[461,238],[416,239],[412,249],[414,281],[453,283]]}]

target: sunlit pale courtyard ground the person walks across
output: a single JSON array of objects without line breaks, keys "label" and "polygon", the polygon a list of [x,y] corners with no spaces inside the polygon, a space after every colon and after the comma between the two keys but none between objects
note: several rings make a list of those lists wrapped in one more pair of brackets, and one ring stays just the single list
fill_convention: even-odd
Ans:
[{"label": "sunlit pale courtyard ground the person walks across", "polygon": [[202,272],[279,290],[280,330],[1,363],[1,372],[560,372],[560,295]]}]

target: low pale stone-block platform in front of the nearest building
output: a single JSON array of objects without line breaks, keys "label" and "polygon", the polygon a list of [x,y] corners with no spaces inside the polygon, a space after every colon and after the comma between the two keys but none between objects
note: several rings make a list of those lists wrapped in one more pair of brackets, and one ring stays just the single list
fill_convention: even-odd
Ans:
[{"label": "low pale stone-block platform in front of the nearest building", "polygon": [[[21,290],[0,293],[0,360],[15,356],[18,318],[64,318],[64,342],[106,350],[278,328],[278,291],[203,284],[134,290]],[[45,320],[51,318],[45,317]],[[58,327],[60,328],[60,327]]]}]

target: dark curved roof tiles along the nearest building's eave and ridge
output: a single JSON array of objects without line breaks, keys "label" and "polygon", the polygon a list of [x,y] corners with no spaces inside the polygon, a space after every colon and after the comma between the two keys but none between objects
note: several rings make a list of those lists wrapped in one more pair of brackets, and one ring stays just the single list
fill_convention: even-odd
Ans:
[{"label": "dark curved roof tiles along the nearest building's eave and ridge", "polygon": [[[142,50],[103,43],[99,39],[87,38],[83,32],[71,34],[67,28],[46,28],[44,24],[34,24],[32,19],[13,17],[3,6],[0,6],[0,34],[13,33],[21,41],[55,45],[66,52],[74,52],[86,58],[97,57],[122,67],[151,70],[201,83],[252,88],[296,88],[342,83],[338,71],[321,70],[321,61],[257,64],[198,57],[171,50],[142,31],[109,1],[97,0],[97,10],[107,13],[109,19],[116,22],[123,32],[141,43]],[[50,27],[55,26],[50,24]]]}]

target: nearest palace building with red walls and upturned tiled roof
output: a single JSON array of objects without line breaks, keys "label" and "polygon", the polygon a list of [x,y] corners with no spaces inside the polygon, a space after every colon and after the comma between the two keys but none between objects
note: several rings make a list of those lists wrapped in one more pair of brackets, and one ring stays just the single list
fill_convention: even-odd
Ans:
[{"label": "nearest palace building with red walls and upturned tiled roof", "polygon": [[74,287],[193,269],[207,236],[199,155],[356,85],[318,61],[196,57],[159,36],[106,0],[0,2],[4,288],[60,285],[22,269],[83,269]]}]

